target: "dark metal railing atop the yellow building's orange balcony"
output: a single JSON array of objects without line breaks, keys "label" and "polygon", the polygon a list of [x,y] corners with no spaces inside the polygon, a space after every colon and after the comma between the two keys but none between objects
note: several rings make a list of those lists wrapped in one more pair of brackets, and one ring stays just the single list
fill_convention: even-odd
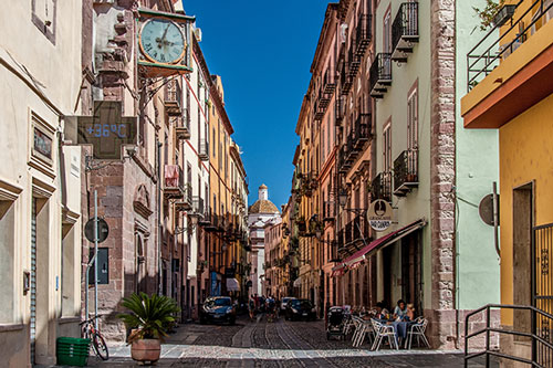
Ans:
[{"label": "dark metal railing atop the yellow building's orange balcony", "polygon": [[[519,7],[523,0],[517,3]],[[539,12],[526,23],[526,19],[532,15],[532,11],[539,7]],[[526,33],[540,21],[544,14],[553,9],[553,2],[544,6],[543,0],[535,0],[532,4],[515,20],[511,19],[511,25],[491,44],[486,48],[484,42],[495,36],[500,25],[495,24],[474,48],[467,54],[467,91],[470,92],[481,80],[490,74],[500,60],[507,57],[517,48],[526,41]],[[510,39],[512,38],[512,39]],[[503,44],[501,44],[503,42]],[[482,50],[483,49],[483,50]],[[481,50],[481,51],[479,51]]]}]

